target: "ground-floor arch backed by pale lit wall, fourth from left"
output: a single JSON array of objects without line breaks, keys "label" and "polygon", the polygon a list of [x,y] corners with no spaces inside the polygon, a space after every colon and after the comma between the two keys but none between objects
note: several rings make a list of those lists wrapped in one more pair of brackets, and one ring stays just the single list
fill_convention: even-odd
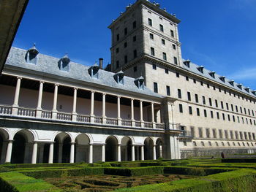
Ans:
[{"label": "ground-floor arch backed by pale lit wall, fourth from left", "polygon": [[75,137],[75,162],[89,162],[89,144],[91,142],[89,134],[78,134]]}]

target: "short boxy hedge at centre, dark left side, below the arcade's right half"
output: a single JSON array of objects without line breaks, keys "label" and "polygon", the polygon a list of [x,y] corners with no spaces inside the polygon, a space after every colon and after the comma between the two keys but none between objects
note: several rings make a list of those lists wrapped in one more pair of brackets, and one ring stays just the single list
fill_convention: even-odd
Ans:
[{"label": "short boxy hedge at centre, dark left side, below the arcade's right half", "polygon": [[148,174],[163,174],[163,166],[148,166],[148,167],[137,167],[137,168],[105,168],[104,174],[120,175],[120,176],[141,176]]}]

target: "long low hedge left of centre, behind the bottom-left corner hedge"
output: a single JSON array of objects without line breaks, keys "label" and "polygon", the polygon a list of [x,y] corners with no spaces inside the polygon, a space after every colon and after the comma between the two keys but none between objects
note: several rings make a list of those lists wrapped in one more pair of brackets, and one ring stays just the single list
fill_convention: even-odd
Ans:
[{"label": "long low hedge left of centre, behind the bottom-left corner hedge", "polygon": [[46,177],[74,177],[84,175],[99,175],[104,174],[103,167],[86,167],[83,169],[50,169],[50,170],[25,170],[21,173],[34,178],[46,178]]}]

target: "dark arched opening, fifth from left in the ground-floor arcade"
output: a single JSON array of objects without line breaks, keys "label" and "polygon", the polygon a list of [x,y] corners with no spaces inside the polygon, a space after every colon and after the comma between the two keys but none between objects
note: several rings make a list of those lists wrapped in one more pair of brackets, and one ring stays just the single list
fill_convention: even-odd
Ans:
[{"label": "dark arched opening, fifth from left in the ground-floor arcade", "polygon": [[105,161],[117,161],[118,137],[109,136],[105,143]]}]

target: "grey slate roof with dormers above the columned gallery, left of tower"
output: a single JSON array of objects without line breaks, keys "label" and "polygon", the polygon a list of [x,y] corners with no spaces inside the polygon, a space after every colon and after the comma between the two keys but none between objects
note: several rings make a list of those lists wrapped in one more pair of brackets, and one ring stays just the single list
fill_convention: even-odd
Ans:
[{"label": "grey slate roof with dormers above the columned gallery, left of tower", "polygon": [[37,72],[42,72],[46,74],[53,74],[60,77],[67,77],[70,79],[81,80],[83,82],[91,82],[99,85],[105,85],[110,88],[117,88],[124,91],[132,91],[135,93],[141,93],[148,96],[155,96],[157,98],[162,98],[163,96],[158,93],[154,93],[149,88],[139,89],[135,85],[135,79],[131,77],[124,76],[124,85],[120,85],[114,80],[115,73],[107,72],[105,70],[99,69],[99,78],[92,78],[89,74],[89,68],[91,66],[84,66],[82,64],[76,64],[74,62],[69,63],[69,72],[61,71],[58,66],[60,58],[53,58],[48,55],[37,55],[37,64],[26,63],[26,53],[27,50],[23,50],[17,47],[12,47],[7,58],[6,66],[18,66],[23,69],[30,69]]}]

